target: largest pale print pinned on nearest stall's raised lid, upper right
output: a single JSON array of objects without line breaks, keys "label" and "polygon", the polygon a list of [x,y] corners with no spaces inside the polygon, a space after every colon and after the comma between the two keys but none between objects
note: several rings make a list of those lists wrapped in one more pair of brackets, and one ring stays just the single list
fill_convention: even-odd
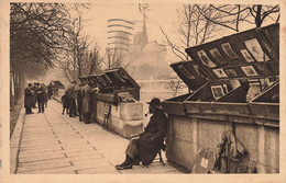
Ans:
[{"label": "largest pale print pinned on nearest stall's raised lid, upper right", "polygon": [[262,47],[256,38],[244,41],[244,44],[257,61],[270,60],[270,57],[262,50]]}]

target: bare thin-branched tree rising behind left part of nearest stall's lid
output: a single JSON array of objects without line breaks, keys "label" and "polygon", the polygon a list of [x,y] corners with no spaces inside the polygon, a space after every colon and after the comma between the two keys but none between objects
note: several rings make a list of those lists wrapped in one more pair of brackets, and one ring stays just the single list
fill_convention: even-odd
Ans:
[{"label": "bare thin-branched tree rising behind left part of nearest stall's lid", "polygon": [[180,60],[189,58],[184,50],[186,47],[205,43],[212,37],[212,33],[216,30],[216,24],[206,19],[200,11],[204,11],[208,18],[216,16],[207,5],[198,9],[197,5],[184,4],[182,9],[177,10],[178,28],[176,31],[176,39],[179,41],[178,43],[173,41],[160,25],[160,30],[165,36],[164,43],[170,47],[173,54]]}]

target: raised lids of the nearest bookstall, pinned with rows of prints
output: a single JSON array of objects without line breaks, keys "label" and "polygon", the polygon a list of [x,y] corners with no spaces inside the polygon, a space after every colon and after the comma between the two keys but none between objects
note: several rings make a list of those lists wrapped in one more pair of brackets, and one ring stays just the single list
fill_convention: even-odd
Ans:
[{"label": "raised lids of the nearest bookstall, pinned with rows of prints", "polygon": [[191,60],[170,65],[195,91],[207,81],[226,90],[239,80],[275,81],[279,76],[279,24],[253,28],[186,48]]}]

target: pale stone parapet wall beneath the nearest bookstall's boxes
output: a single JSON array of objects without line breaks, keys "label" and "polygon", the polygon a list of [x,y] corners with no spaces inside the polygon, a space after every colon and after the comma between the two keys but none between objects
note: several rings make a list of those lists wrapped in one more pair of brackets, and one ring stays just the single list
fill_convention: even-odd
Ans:
[{"label": "pale stone parapet wall beneath the nearest bookstall's boxes", "polygon": [[166,157],[189,171],[200,148],[218,152],[217,146],[221,142],[222,134],[234,127],[237,138],[245,146],[257,172],[279,172],[278,127],[209,119],[195,115],[186,117],[169,114],[168,118]]}]

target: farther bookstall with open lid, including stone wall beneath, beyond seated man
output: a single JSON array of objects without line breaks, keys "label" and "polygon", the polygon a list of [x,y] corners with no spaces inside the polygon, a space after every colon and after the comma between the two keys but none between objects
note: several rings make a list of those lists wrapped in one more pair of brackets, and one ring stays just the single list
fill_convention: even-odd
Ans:
[{"label": "farther bookstall with open lid, including stone wall beneath, beyond seated man", "polygon": [[99,88],[92,95],[91,118],[95,122],[124,137],[142,131],[143,105],[138,102],[140,85],[123,68],[108,69],[79,80]]}]

